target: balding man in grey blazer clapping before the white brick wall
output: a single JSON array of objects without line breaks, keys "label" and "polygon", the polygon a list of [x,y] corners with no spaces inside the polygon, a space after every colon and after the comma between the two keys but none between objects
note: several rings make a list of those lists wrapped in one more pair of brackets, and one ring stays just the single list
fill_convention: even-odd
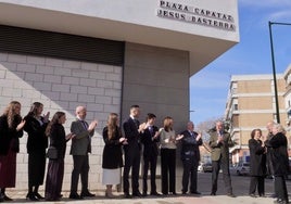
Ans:
[{"label": "balding man in grey blazer clapping before the white brick wall", "polygon": [[[69,199],[83,199],[84,196],[94,196],[88,190],[89,157],[91,153],[91,137],[94,135],[97,120],[88,125],[85,122],[87,110],[85,106],[76,107],[76,120],[71,125],[71,132],[76,135],[72,139],[71,154],[73,155],[74,169],[72,171]],[[79,176],[81,179],[81,193],[77,193]]]}]

